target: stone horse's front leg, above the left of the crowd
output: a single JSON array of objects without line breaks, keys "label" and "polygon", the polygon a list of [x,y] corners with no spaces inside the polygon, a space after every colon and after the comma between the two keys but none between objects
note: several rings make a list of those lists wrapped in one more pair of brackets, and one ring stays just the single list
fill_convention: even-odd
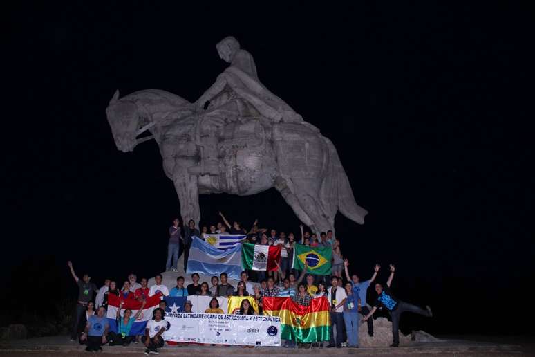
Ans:
[{"label": "stone horse's front leg, above the left of the crowd", "polygon": [[190,219],[193,219],[198,227],[200,221],[199,190],[197,176],[188,173],[188,167],[193,165],[190,161],[176,160],[173,170],[173,183],[176,194],[180,201],[180,215],[182,223],[186,226]]}]

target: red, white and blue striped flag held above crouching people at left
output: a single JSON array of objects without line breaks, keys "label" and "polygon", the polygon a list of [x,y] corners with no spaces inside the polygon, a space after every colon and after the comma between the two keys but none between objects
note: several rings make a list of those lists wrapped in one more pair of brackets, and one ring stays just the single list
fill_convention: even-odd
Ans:
[{"label": "red, white and blue striped flag held above crouching people at left", "polygon": [[[121,317],[124,315],[125,309],[131,309],[132,310],[132,318],[135,316],[136,313],[138,313],[138,310],[141,307],[141,302],[135,299],[126,299],[123,300],[124,304],[122,305],[121,309]],[[147,302],[145,303],[144,309],[142,310],[142,313],[139,315],[138,320],[135,320],[135,322],[132,325],[132,329],[130,330],[129,336],[137,336],[137,335],[144,335],[145,333],[145,326],[147,326],[147,321],[151,320],[152,318],[152,311],[158,307],[160,304],[160,296],[154,295],[147,297]],[[106,315],[106,318],[108,318],[108,323],[110,325],[110,331],[117,332],[117,310],[119,309],[119,305],[121,304],[121,300],[118,296],[115,296],[113,294],[108,295],[108,313]]]}]

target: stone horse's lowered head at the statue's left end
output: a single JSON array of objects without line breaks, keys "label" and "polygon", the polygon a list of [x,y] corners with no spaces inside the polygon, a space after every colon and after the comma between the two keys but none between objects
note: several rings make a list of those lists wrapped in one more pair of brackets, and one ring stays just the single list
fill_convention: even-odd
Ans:
[{"label": "stone horse's lowered head at the statue's left end", "polygon": [[117,148],[122,152],[131,152],[138,144],[135,138],[140,127],[138,106],[131,100],[120,100],[119,91],[115,91],[106,108],[106,116]]}]

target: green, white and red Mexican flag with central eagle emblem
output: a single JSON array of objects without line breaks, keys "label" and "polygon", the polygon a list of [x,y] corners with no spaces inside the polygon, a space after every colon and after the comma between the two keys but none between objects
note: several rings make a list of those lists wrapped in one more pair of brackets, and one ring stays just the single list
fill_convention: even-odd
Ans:
[{"label": "green, white and red Mexican flag with central eagle emblem", "polygon": [[276,271],[276,263],[281,261],[280,246],[241,244],[241,265],[252,271]]}]

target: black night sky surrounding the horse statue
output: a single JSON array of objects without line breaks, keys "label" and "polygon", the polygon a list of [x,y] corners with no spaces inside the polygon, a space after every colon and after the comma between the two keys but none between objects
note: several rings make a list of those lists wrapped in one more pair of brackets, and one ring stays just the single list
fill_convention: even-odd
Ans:
[{"label": "black night sky surrounding the horse statue", "polygon": [[[350,268],[366,278],[379,262],[384,281],[393,262],[395,293],[433,307],[435,318],[407,315],[402,328],[533,333],[528,5],[72,1],[4,12],[3,322],[15,306],[38,315],[74,297],[67,259],[99,286],[165,268],[173,184],[156,143],[115,148],[104,110],[115,89],[194,102],[226,66],[215,44],[233,35],[263,84],[335,143],[369,210],[364,226],[336,219]],[[299,230],[275,190],[200,205],[201,223],[221,210],[247,228],[259,218]]]}]

